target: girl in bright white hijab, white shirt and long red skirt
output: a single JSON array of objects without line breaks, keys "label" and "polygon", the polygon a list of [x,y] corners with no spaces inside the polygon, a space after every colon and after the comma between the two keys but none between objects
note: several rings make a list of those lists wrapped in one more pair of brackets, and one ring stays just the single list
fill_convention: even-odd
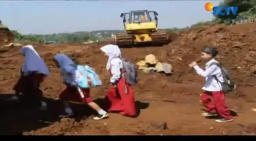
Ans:
[{"label": "girl in bright white hijab, white shirt and long red skirt", "polygon": [[108,112],[119,112],[134,117],[137,115],[132,87],[123,77],[126,73],[122,64],[121,51],[117,45],[104,45],[100,48],[108,56],[106,70],[111,72],[110,88],[106,92],[104,103]]}]

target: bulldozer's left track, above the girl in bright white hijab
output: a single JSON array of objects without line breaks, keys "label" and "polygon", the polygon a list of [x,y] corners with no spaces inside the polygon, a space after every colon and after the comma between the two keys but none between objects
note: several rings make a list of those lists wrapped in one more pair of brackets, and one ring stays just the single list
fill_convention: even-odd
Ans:
[{"label": "bulldozer's left track, above the girl in bright white hijab", "polygon": [[128,33],[118,33],[115,37],[115,43],[117,45],[133,45],[132,35]]}]

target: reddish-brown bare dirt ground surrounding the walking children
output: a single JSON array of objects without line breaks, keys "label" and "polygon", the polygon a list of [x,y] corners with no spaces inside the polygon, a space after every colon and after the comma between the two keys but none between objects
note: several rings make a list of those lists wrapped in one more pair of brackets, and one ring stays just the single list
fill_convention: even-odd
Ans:
[{"label": "reddish-brown bare dirt ground surrounding the walking children", "polygon": [[[174,36],[173,36],[174,37]],[[20,47],[0,49],[0,134],[26,135],[251,135],[256,134],[256,24],[233,26],[203,26],[182,31],[177,39],[162,47],[133,47],[122,49],[122,55],[133,62],[154,54],[160,62],[173,66],[173,75],[139,71],[139,82],[133,86],[139,117],[130,118],[111,113],[108,119],[94,121],[96,113],[87,105],[73,103],[75,116],[59,119],[63,105],[57,100],[65,88],[53,55],[65,53],[76,58],[79,64],[96,68],[104,85],[91,89],[98,104],[109,85],[111,75],[105,69],[107,58],[100,44],[33,44],[48,65],[51,76],[41,89],[48,102],[48,110],[40,111],[27,102],[6,102],[14,94],[12,87],[18,81],[23,56]],[[204,78],[188,64],[200,58],[203,45],[216,45],[218,60],[231,71],[238,84],[235,92],[227,96],[227,105],[233,109],[234,121],[215,123],[201,116],[200,94]],[[201,67],[204,62],[200,62]]]}]

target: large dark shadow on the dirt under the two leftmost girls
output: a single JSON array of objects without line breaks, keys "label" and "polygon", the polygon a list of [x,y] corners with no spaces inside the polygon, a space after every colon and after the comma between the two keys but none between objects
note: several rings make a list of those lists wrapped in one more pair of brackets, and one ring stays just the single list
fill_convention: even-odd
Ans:
[{"label": "large dark shadow on the dirt under the two leftmost girls", "polygon": [[[38,106],[20,100],[18,102],[6,101],[13,94],[0,94],[0,135],[21,135],[24,132],[47,127],[60,121],[59,114],[63,113],[63,103],[60,100],[45,98],[48,110],[39,110]],[[87,104],[70,103],[74,110],[75,121],[87,119],[95,114]]]}]

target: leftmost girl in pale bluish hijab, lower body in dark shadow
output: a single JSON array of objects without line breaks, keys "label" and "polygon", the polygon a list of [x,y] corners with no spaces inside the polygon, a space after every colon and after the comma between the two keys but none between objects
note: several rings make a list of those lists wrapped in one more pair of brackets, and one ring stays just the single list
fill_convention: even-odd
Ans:
[{"label": "leftmost girl in pale bluish hijab, lower body in dark shadow", "polygon": [[40,83],[50,75],[48,67],[32,45],[22,47],[20,52],[25,56],[25,61],[20,72],[20,79],[14,86],[16,96],[13,96],[11,100],[19,100],[18,96],[22,94],[23,98],[29,99],[30,102],[41,102],[40,109],[45,110],[47,104],[42,101]]}]

